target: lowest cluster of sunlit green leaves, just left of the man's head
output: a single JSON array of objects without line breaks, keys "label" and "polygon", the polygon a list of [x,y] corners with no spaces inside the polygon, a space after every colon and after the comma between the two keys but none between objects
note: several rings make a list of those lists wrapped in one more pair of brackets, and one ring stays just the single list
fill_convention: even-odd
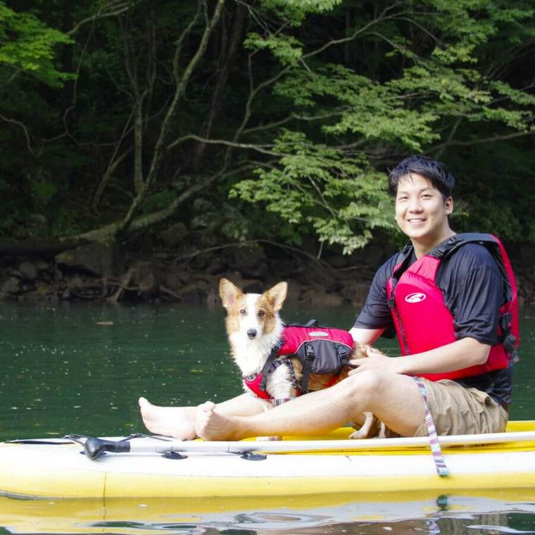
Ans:
[{"label": "lowest cluster of sunlit green leaves, just left of the man's head", "polygon": [[257,180],[243,180],[231,197],[265,203],[292,225],[313,225],[320,241],[339,244],[344,253],[364,246],[374,227],[393,227],[382,176],[363,158],[313,144],[300,132],[285,130],[275,143],[279,164],[258,169]]}]

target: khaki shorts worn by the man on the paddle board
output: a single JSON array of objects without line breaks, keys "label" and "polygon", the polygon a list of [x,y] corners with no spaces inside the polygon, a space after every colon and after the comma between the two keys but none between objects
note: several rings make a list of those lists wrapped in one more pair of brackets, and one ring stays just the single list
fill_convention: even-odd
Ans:
[{"label": "khaki shorts worn by the man on the paddle board", "polygon": [[[500,433],[505,431],[507,411],[481,390],[465,388],[450,379],[429,381],[420,378],[427,389],[427,407],[439,435]],[[385,429],[385,435],[398,434]],[[427,436],[425,422],[414,436]]]}]

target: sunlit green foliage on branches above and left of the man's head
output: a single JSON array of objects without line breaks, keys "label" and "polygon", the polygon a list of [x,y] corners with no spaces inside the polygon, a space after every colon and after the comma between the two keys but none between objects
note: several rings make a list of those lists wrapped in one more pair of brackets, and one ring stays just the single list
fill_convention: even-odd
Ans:
[{"label": "sunlit green foliage on branches above and left of the man's head", "polygon": [[[373,153],[381,145],[384,152],[389,147],[391,151],[426,151],[443,140],[441,129],[452,119],[520,131],[532,128],[534,97],[503,80],[490,80],[484,70],[472,66],[479,61],[481,47],[498,34],[503,23],[520,23],[532,11],[486,0],[406,4],[409,14],[403,18],[426,27],[435,46],[427,52],[418,50],[410,39],[396,33],[399,30],[391,21],[379,22],[376,35],[391,46],[384,57],[397,61],[403,56],[406,62],[389,80],[379,82],[362,69],[315,58],[306,65],[292,64],[274,91],[309,115],[331,111],[330,120],[320,123],[329,144],[310,139],[312,132],[284,132],[274,140],[273,151],[280,155],[277,163],[259,168],[257,179],[240,182],[231,196],[263,203],[291,224],[304,227],[310,223],[320,241],[341,244],[350,253],[371,239],[374,227],[392,227],[384,190],[376,186],[384,182],[384,175],[373,169],[368,151]],[[435,12],[434,18],[429,18],[429,9]],[[278,42],[284,42],[280,34]],[[295,46],[293,37],[291,43]],[[283,51],[282,46],[272,48],[275,59],[289,65],[287,59],[282,61]],[[304,49],[302,53],[303,58],[310,56]],[[336,148],[343,140],[348,146],[358,146],[356,157]],[[474,206],[481,210],[474,209],[473,220],[484,227],[499,212],[491,209],[490,199]],[[512,216],[514,210],[509,213]],[[512,217],[505,220],[508,223],[503,219],[497,223],[505,239],[518,237],[520,223]]]}]

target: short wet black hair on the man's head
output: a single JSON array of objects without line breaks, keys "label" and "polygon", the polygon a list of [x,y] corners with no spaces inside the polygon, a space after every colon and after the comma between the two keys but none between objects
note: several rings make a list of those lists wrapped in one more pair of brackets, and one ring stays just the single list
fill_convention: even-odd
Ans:
[{"label": "short wet black hair on the man's head", "polygon": [[420,156],[419,154],[405,158],[405,160],[398,163],[389,172],[390,194],[395,197],[398,193],[399,181],[404,177],[410,177],[413,173],[426,177],[441,192],[444,199],[453,195],[455,178],[448,172],[446,165],[427,156]]}]

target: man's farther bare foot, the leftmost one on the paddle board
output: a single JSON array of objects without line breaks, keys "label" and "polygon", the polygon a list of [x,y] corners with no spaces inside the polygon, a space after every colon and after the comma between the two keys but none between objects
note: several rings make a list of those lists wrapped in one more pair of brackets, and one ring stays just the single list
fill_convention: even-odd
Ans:
[{"label": "man's farther bare foot, the leftmost one on the paddle board", "polygon": [[145,427],[151,433],[192,440],[196,437],[196,407],[159,407],[139,398],[139,409]]}]

